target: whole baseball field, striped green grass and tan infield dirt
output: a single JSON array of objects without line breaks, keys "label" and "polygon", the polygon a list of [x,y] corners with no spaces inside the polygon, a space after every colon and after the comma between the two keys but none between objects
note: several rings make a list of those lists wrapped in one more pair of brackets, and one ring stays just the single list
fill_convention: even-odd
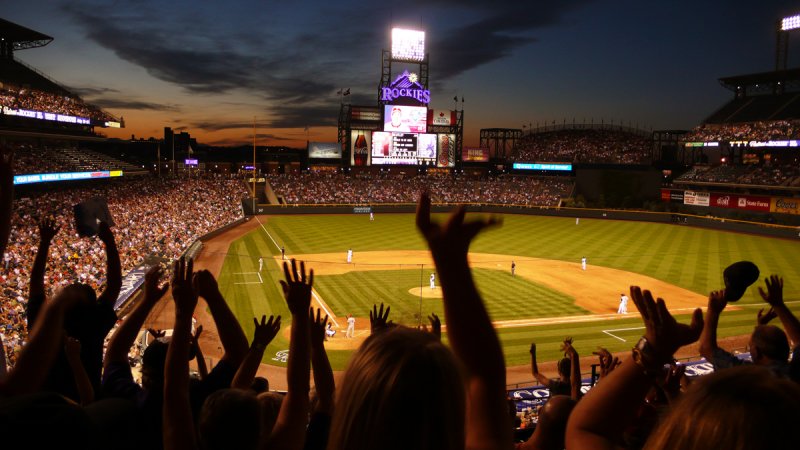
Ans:
[{"label": "whole baseball field, striped green grass and tan infield dirt", "polygon": [[[445,217],[435,215],[434,220]],[[632,302],[627,315],[617,314],[620,294],[630,285],[663,297],[678,320],[686,321],[693,308],[705,306],[708,292],[723,287],[724,268],[740,260],[756,263],[762,279],[782,275],[787,303],[800,310],[797,241],[644,222],[581,219],[576,225],[571,218],[501,218],[501,226],[475,240],[470,261],[509,366],[528,364],[531,342],[537,343],[540,360],[559,358],[565,336],[574,337],[582,354],[598,346],[628,350],[643,332]],[[367,215],[254,220],[250,231],[216,256],[224,258],[221,290],[249,336],[254,316],[283,316],[282,332],[267,349],[265,363],[285,365],[289,348],[290,315],[278,284],[281,247],[287,258],[304,260],[315,271],[313,304],[325,309],[337,330],[326,344],[335,370],[345,368],[369,334],[373,303],[391,305],[390,319],[396,323],[424,324],[431,313],[444,320],[438,280],[430,287],[435,269],[412,214],[380,214],[375,221]],[[348,249],[353,250],[351,263]],[[752,331],[764,307],[759,285],[723,314],[720,338]],[[355,338],[345,337],[347,314],[356,317]]]}]

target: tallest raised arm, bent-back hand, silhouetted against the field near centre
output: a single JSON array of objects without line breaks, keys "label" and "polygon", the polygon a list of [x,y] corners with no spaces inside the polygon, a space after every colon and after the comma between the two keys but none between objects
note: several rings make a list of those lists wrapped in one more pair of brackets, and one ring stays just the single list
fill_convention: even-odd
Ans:
[{"label": "tallest raised arm, bent-back hand, silhouetted against the field near centre", "polygon": [[450,346],[467,373],[467,447],[510,448],[503,351],[467,262],[472,240],[497,222],[465,223],[466,210],[461,207],[442,226],[431,222],[430,210],[430,197],[423,193],[417,205],[417,228],[428,242],[441,281]]}]

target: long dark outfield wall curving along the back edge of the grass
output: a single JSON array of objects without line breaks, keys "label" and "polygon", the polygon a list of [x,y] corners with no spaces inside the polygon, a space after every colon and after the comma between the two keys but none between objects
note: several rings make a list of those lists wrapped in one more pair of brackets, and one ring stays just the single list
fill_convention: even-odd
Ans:
[{"label": "long dark outfield wall curving along the back edge of the grass", "polygon": [[[653,222],[675,224],[675,226],[694,226],[720,231],[737,233],[751,233],[768,237],[800,240],[800,227],[771,225],[740,220],[727,220],[719,217],[699,216],[691,214],[675,214],[648,211],[622,211],[613,209],[586,209],[586,208],[553,208],[553,207],[525,207],[504,205],[466,205],[467,211],[495,214],[527,214],[535,216],[605,219],[605,220],[631,220],[636,222]],[[243,201],[245,214],[252,215],[252,204]],[[449,212],[455,205],[433,205],[432,212]],[[355,212],[358,211],[358,212]],[[381,213],[414,213],[414,204],[393,205],[256,205],[256,214],[259,215],[291,215],[291,214],[375,214]]]}]

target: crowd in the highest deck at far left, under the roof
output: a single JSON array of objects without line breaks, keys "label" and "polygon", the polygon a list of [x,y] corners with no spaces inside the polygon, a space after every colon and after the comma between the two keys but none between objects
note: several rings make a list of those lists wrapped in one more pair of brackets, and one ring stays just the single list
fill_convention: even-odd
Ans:
[{"label": "crowd in the highest deck at far left, under the roof", "polygon": [[114,121],[114,117],[101,109],[84,102],[80,97],[67,93],[45,92],[36,89],[0,85],[0,110],[25,109],[101,121]]}]

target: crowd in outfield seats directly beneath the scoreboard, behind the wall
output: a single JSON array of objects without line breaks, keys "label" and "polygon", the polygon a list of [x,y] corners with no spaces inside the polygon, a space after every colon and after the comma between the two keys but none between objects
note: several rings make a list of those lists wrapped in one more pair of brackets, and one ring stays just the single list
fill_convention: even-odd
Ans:
[{"label": "crowd in outfield seats directly beneath the scoreboard, behind the wall", "polygon": [[492,203],[556,206],[569,195],[572,183],[564,178],[397,174],[349,175],[342,172],[303,172],[270,175],[275,194],[289,204],[414,203],[419,192],[431,192],[437,203]]}]

